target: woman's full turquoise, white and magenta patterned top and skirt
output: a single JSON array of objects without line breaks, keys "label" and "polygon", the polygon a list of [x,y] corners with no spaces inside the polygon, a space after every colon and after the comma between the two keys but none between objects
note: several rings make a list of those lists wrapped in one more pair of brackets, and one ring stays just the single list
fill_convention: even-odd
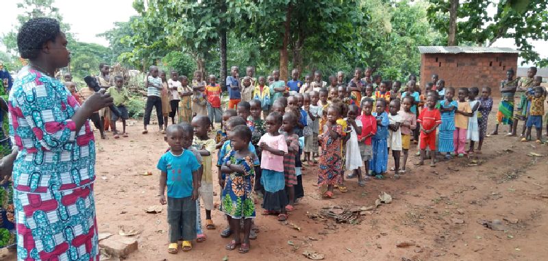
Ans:
[{"label": "woman's full turquoise, white and magenta patterned top and skirt", "polygon": [[9,99],[18,260],[99,260],[95,140],[57,79],[24,67]]}]

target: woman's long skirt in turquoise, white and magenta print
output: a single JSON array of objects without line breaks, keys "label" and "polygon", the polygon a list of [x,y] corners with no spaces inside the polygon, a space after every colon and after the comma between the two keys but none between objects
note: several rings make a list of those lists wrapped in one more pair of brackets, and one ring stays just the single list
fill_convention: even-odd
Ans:
[{"label": "woman's long skirt in turquoise, white and magenta print", "polygon": [[99,260],[93,185],[14,191],[18,260]]}]

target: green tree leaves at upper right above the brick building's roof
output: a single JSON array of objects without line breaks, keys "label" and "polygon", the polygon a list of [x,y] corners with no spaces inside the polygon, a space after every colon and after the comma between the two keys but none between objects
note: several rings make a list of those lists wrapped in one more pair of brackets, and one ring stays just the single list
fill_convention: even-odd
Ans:
[{"label": "green tree leaves at upper right above the brick building's roof", "polygon": [[[443,35],[449,31],[449,1],[429,0],[430,24]],[[487,8],[495,5],[497,12],[489,16]],[[523,62],[548,65],[547,58],[533,49],[531,40],[548,40],[546,0],[466,0],[458,6],[456,40],[461,44],[490,46],[499,38],[512,38]]]}]

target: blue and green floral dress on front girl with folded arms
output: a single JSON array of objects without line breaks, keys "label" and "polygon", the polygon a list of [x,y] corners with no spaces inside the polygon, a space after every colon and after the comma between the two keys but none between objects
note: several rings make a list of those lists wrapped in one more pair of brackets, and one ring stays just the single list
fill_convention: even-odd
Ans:
[{"label": "blue and green floral dress on front girl with folded arms", "polygon": [[[254,156],[256,157],[256,156]],[[255,217],[253,201],[253,182],[256,158],[236,158],[236,151],[231,150],[224,158],[224,164],[239,164],[244,166],[245,173],[230,173],[227,175],[225,188],[221,193],[221,210],[233,219],[250,219]]]}]

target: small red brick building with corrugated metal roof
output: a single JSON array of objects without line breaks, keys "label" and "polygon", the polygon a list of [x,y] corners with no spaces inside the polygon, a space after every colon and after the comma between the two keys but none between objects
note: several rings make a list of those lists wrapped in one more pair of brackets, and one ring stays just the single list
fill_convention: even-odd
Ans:
[{"label": "small red brick building with corrugated metal roof", "polygon": [[481,88],[488,86],[500,97],[499,86],[506,70],[517,70],[519,52],[511,48],[419,46],[421,52],[421,88],[433,74],[445,80],[445,86]]}]

